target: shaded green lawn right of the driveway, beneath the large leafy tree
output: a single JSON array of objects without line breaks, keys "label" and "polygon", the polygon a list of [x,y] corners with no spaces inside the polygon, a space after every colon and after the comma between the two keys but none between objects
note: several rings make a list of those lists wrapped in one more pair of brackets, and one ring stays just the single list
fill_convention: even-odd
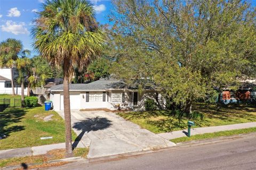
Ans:
[{"label": "shaded green lawn right of the driveway, beneath the large leafy tree", "polygon": [[[190,120],[196,123],[193,126],[194,128],[256,122],[256,107],[246,105],[225,106],[217,111],[215,105],[197,103],[193,106],[193,111],[204,116],[203,120],[201,118]],[[118,115],[154,133],[187,129],[188,119],[182,118],[179,120],[177,116],[169,111],[123,112]]]}]

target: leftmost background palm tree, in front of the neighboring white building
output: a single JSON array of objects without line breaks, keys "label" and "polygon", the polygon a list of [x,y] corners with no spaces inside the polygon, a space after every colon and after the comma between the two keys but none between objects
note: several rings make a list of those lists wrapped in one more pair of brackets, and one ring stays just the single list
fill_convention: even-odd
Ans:
[{"label": "leftmost background palm tree, in front of the neighboring white building", "polygon": [[23,50],[20,40],[8,38],[0,43],[0,66],[7,66],[11,68],[12,95],[15,95],[13,67],[17,64],[16,62],[18,58],[26,53],[29,53],[29,51]]}]

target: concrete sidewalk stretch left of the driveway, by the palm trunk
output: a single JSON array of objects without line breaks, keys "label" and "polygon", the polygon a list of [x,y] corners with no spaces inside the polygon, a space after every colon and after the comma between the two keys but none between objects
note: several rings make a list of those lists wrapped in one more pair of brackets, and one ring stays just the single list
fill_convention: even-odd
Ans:
[{"label": "concrete sidewalk stretch left of the driveway, by the palm trunk", "polygon": [[[76,147],[84,148],[85,146],[81,142],[79,142]],[[12,157],[43,155],[53,149],[65,149],[65,143],[42,145],[42,146],[37,146],[37,147],[26,147],[26,148],[0,150],[0,159],[6,159],[6,158],[12,158]]]}]

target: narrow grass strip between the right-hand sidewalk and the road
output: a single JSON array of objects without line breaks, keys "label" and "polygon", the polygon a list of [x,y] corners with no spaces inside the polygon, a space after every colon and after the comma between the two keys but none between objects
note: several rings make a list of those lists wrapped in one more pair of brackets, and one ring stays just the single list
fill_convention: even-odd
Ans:
[{"label": "narrow grass strip between the right-hand sidewalk and the road", "polygon": [[214,133],[196,134],[196,135],[192,135],[190,138],[181,137],[181,138],[171,139],[170,141],[174,143],[179,143],[179,142],[185,142],[185,141],[191,141],[191,140],[211,139],[211,138],[225,137],[225,136],[251,133],[251,132],[256,132],[256,128],[246,128],[246,129],[221,131],[221,132],[214,132]]}]

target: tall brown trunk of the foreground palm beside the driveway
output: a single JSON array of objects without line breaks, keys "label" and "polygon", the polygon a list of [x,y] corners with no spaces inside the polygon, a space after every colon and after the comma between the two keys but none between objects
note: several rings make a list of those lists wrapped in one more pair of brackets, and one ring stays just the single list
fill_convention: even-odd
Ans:
[{"label": "tall brown trunk of the foreground palm beside the driveway", "polygon": [[65,135],[66,135],[66,157],[73,157],[72,141],[71,141],[71,116],[70,116],[70,100],[69,100],[69,61],[65,60],[63,65],[63,101],[65,115]]}]

